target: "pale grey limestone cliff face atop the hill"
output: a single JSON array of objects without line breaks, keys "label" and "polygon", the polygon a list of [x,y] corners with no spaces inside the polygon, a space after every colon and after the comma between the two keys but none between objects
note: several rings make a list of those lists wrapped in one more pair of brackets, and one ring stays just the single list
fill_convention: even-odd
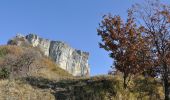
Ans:
[{"label": "pale grey limestone cliff face atop the hill", "polygon": [[44,55],[50,57],[56,64],[59,64],[62,69],[65,69],[73,76],[89,76],[89,53],[76,50],[61,41],[50,41],[40,38],[35,34],[29,34],[27,36],[17,35],[16,38],[17,43],[19,43],[16,45],[21,44],[20,40],[22,38],[22,40],[28,42],[33,47],[40,48]]}]

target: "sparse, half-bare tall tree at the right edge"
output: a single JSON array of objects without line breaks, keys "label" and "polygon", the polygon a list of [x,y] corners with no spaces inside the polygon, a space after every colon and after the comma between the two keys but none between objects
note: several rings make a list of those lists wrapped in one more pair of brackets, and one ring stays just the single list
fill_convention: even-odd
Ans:
[{"label": "sparse, half-bare tall tree at the right edge", "polygon": [[136,4],[131,10],[139,24],[145,27],[143,34],[150,43],[155,65],[151,70],[161,76],[165,100],[170,100],[170,6],[159,0],[146,0],[144,5]]}]

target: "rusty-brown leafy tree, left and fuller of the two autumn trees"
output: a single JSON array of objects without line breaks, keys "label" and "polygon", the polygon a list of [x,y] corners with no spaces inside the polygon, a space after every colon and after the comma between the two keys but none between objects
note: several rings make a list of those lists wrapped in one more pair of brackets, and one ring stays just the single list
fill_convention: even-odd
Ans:
[{"label": "rusty-brown leafy tree, left and fuller of the two autumn trees", "polygon": [[123,73],[124,88],[127,88],[130,77],[140,74],[151,64],[150,52],[142,36],[143,27],[137,27],[131,11],[126,23],[120,16],[106,15],[99,26],[100,47],[110,52],[116,70]]}]

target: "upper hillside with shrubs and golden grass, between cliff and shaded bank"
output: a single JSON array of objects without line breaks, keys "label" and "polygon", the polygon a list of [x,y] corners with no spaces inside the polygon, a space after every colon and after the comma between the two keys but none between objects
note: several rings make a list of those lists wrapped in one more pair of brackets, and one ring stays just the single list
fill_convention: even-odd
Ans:
[{"label": "upper hillside with shrubs and golden grass, between cliff and shaded bank", "polygon": [[9,71],[9,77],[28,75],[56,80],[72,76],[33,47],[0,46],[0,66]]}]

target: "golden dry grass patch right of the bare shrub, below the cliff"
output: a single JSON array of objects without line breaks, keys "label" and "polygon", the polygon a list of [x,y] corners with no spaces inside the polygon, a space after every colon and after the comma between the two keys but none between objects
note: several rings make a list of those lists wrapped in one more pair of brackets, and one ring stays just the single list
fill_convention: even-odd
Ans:
[{"label": "golden dry grass patch right of the bare shrub, below the cliff", "polygon": [[34,63],[31,76],[43,77],[50,80],[60,80],[63,78],[72,77],[71,74],[58,67],[52,60],[47,57],[43,57]]}]

